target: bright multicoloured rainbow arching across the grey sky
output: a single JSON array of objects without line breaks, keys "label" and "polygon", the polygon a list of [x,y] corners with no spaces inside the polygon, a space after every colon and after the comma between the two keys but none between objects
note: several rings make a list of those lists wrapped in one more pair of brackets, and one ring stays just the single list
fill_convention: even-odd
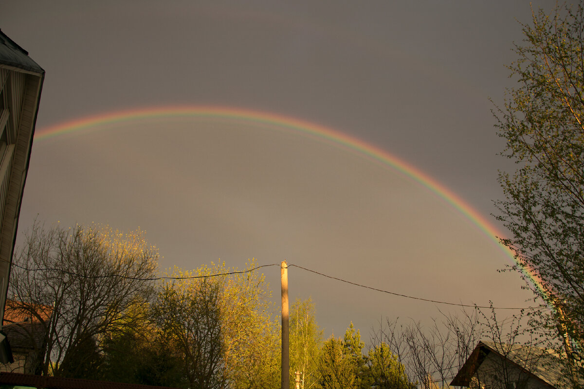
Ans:
[{"label": "bright multicoloured rainbow arching across the grey sky", "polygon": [[[265,124],[275,126],[294,132],[298,135],[309,136],[320,141],[330,142],[333,145],[341,146],[345,149],[366,156],[371,160],[379,162],[385,166],[390,166],[399,173],[412,178],[423,187],[432,191],[451,205],[465,218],[478,227],[489,240],[496,244],[503,253],[512,261],[516,261],[514,252],[499,242],[497,236],[502,236],[498,230],[479,214],[467,202],[458,197],[446,186],[434,180],[415,166],[405,162],[388,153],[387,151],[361,141],[359,138],[343,134],[335,129],[323,125],[304,121],[298,118],[288,117],[280,114],[267,113],[263,111],[253,111],[243,108],[219,107],[219,106],[181,106],[181,107],[151,107],[134,110],[122,110],[112,113],[105,113],[95,116],[88,116],[77,120],[72,120],[48,128],[43,128],[34,135],[36,141],[53,138],[54,136],[69,134],[77,131],[88,131],[105,124],[123,123],[135,120],[147,120],[149,118],[165,117],[194,117],[194,118],[220,118],[224,120],[235,120],[252,124]],[[524,274],[533,282],[544,296],[548,296],[540,276],[532,269],[523,268]]]}]

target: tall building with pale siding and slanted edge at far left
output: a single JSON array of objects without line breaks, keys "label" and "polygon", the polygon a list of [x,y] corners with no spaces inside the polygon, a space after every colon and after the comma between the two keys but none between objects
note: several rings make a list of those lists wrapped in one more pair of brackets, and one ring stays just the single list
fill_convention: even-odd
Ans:
[{"label": "tall building with pale siding and slanted edge at far left", "polygon": [[44,70],[0,30],[0,323]]}]

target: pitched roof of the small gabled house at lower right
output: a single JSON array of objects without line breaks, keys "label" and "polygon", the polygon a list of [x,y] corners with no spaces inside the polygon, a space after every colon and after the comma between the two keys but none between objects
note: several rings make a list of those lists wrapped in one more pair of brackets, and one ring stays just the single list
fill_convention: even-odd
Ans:
[{"label": "pitched roof of the small gabled house at lower right", "polygon": [[520,369],[526,370],[552,387],[569,386],[569,379],[557,354],[538,347],[497,345],[495,342],[479,342],[450,384],[452,386],[468,386],[471,377],[481,366],[485,356],[491,352],[509,360]]}]

